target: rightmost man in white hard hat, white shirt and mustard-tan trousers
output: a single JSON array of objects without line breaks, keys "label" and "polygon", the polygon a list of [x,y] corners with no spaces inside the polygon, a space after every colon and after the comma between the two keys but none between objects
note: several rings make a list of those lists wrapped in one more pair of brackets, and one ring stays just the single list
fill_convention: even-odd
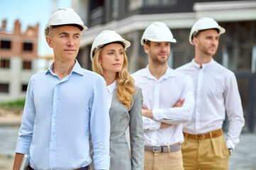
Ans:
[{"label": "rightmost man in white hard hat, white shirt and mustard-tan trousers", "polygon": [[[213,18],[201,18],[191,28],[189,42],[195,47],[192,62],[177,68],[194,81],[195,108],[184,123],[184,169],[228,169],[228,159],[245,124],[235,74],[213,60],[219,36],[225,29]],[[228,115],[226,141],[222,125]]]}]

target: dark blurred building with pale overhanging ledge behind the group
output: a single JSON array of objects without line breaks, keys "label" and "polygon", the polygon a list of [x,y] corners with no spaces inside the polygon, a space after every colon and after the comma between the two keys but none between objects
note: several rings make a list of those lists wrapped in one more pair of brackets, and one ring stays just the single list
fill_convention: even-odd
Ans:
[{"label": "dark blurred building with pale overhanging ledge behind the group", "polygon": [[131,42],[126,52],[130,73],[148,64],[140,38],[150,23],[162,21],[172,30],[177,43],[171,45],[168,63],[175,69],[194,57],[194,46],[189,44],[191,26],[203,16],[214,18],[226,28],[214,60],[235,72],[245,130],[256,128],[256,1],[73,0],[72,6],[89,28],[77,57],[82,67],[91,69],[91,43],[101,30],[109,29]]}]

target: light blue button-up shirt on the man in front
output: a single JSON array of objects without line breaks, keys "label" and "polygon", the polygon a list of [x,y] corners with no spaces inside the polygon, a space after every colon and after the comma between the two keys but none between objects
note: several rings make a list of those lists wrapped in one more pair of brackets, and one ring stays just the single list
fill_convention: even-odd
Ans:
[{"label": "light blue button-up shirt on the man in front", "polygon": [[89,132],[95,168],[108,169],[110,122],[103,77],[77,61],[62,80],[52,66],[34,74],[16,152],[30,154],[33,169],[77,169],[91,163]]}]

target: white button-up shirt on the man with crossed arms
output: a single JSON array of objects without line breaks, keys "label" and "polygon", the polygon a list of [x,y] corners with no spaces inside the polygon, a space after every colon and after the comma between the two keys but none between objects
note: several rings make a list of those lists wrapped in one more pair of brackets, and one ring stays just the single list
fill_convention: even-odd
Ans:
[{"label": "white button-up shirt on the man with crossed arms", "polygon": [[[182,123],[191,119],[194,108],[194,86],[191,78],[169,67],[158,80],[152,76],[148,67],[132,76],[135,85],[143,90],[143,108],[152,110],[153,113],[153,119],[143,116],[145,145],[182,143]],[[180,99],[185,100],[184,105],[174,108]],[[160,129],[161,122],[172,126]]]}]

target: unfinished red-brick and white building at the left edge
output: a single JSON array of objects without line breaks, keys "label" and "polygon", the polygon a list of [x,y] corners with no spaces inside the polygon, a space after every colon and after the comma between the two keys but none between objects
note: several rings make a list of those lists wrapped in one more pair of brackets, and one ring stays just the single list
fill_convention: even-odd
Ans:
[{"label": "unfinished red-brick and white building at the left edge", "polygon": [[0,102],[25,98],[38,57],[39,25],[28,26],[22,33],[17,20],[10,32],[6,30],[6,22],[2,21],[0,30]]}]

